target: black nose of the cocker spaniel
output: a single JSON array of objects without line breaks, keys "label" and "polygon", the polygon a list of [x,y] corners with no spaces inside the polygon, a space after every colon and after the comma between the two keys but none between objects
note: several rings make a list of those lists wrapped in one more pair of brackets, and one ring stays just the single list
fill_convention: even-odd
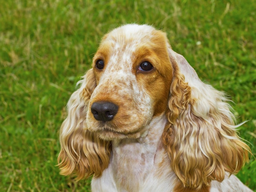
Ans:
[{"label": "black nose of the cocker spaniel", "polygon": [[118,106],[111,102],[95,102],[92,103],[91,112],[98,121],[111,121],[117,114]]}]

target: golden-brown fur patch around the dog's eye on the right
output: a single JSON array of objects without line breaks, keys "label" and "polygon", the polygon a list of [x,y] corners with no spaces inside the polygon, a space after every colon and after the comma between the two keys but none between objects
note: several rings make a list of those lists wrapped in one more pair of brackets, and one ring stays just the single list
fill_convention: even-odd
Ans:
[{"label": "golden-brown fur patch around the dog's eye on the right", "polygon": [[166,110],[173,68],[168,56],[166,34],[153,31],[152,38],[140,45],[135,54],[135,67],[148,61],[154,67],[148,72],[138,71],[137,81],[154,100],[154,116]]}]

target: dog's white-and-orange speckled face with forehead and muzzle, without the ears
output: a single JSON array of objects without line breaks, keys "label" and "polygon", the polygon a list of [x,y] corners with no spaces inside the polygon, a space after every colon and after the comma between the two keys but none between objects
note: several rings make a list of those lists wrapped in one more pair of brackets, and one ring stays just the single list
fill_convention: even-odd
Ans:
[{"label": "dog's white-and-orange speckled face with forehead and muzzle, without the ears", "polygon": [[[173,76],[167,46],[165,33],[150,26],[126,25],[103,37],[92,64],[97,86],[87,112],[90,131],[108,140],[139,138],[165,112]],[[97,118],[94,103],[111,105],[112,117]]]}]

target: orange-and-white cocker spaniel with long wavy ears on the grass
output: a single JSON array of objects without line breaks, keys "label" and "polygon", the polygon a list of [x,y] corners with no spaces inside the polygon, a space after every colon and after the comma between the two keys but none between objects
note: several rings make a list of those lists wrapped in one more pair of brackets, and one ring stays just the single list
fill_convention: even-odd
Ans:
[{"label": "orange-and-white cocker spaniel with long wavy ears on the grass", "polygon": [[233,174],[250,149],[222,92],[203,83],[166,34],[106,34],[60,130],[61,174],[93,192],[246,192]]}]

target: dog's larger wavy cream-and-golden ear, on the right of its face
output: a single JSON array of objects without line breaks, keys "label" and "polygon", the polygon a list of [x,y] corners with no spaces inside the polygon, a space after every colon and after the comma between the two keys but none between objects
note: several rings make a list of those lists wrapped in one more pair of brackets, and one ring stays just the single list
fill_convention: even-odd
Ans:
[{"label": "dog's larger wavy cream-and-golden ear, on the right of its face", "polygon": [[168,47],[173,65],[168,123],[164,129],[171,167],[184,187],[199,190],[225,172],[237,173],[249,147],[237,135],[234,115],[222,92],[203,83],[185,58]]}]

